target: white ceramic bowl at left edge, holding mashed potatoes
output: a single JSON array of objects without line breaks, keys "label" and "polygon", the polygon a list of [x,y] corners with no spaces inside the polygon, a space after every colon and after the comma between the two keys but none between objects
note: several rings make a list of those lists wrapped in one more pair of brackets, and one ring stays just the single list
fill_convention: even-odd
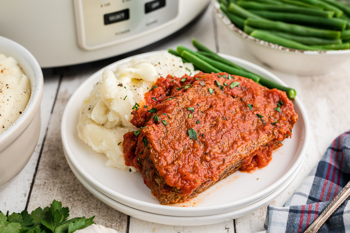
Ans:
[{"label": "white ceramic bowl at left edge, holding mashed potatoes", "polygon": [[13,57],[27,75],[31,94],[21,116],[0,134],[0,191],[27,164],[37,144],[40,128],[40,102],[43,74],[33,55],[22,45],[0,36],[0,53]]}]

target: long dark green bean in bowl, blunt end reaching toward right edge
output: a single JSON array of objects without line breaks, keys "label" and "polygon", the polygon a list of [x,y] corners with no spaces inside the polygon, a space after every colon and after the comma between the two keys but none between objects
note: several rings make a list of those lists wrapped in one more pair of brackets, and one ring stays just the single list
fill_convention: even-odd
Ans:
[{"label": "long dark green bean in bowl, blunt end reaching toward right edge", "polygon": [[345,30],[346,21],[339,18],[325,18],[320,16],[305,15],[289,12],[271,12],[267,10],[249,10],[253,14],[264,17],[265,19],[282,21],[296,24],[311,24],[321,27],[330,27],[338,30]]}]

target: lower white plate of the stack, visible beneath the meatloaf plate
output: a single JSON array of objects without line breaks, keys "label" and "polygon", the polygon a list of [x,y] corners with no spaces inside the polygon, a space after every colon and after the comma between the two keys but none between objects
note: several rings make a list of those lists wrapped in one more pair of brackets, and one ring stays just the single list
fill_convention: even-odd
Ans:
[{"label": "lower white plate of the stack, visible beneath the meatloaf plate", "polygon": [[246,214],[250,214],[253,211],[261,208],[262,206],[268,204],[273,199],[275,199],[278,195],[280,195],[293,182],[293,180],[299,173],[304,161],[303,159],[303,161],[301,162],[299,167],[296,169],[296,171],[293,173],[293,175],[290,176],[289,179],[284,184],[282,184],[280,188],[278,188],[276,191],[274,191],[272,194],[268,195],[267,197],[261,199],[260,201],[255,202],[254,204],[248,205],[238,210],[234,210],[234,211],[230,211],[222,214],[210,215],[210,216],[175,217],[175,216],[166,216],[166,215],[148,213],[137,209],[133,209],[129,206],[120,204],[119,202],[116,202],[113,199],[105,196],[104,194],[99,192],[97,189],[95,189],[89,182],[87,182],[82,177],[82,175],[77,171],[77,169],[73,166],[72,162],[69,160],[65,151],[64,151],[64,154],[66,156],[69,166],[71,167],[73,173],[78,178],[80,183],[82,183],[83,186],[100,201],[111,206],[113,209],[116,209],[134,218],[150,221],[152,223],[159,223],[159,224],[166,224],[166,225],[173,225],[173,226],[200,226],[200,225],[222,223],[225,221],[230,221],[232,219],[245,216]]}]

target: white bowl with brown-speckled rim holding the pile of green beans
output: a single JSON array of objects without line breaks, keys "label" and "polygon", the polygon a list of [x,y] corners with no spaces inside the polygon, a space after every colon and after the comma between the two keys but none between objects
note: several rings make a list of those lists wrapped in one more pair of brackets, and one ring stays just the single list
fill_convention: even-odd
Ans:
[{"label": "white bowl with brown-speckled rim holding the pile of green beans", "polygon": [[246,48],[256,58],[275,70],[300,75],[322,74],[350,59],[350,49],[305,51],[262,41],[237,28],[220,10],[218,3],[214,4],[214,11],[219,21],[225,24],[234,35],[241,38]]}]

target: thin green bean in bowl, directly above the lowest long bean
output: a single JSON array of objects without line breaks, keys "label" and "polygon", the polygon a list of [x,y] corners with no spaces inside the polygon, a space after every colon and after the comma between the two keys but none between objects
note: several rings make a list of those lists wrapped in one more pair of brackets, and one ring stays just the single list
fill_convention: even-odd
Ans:
[{"label": "thin green bean in bowl, directly above the lowest long bean", "polygon": [[342,43],[342,39],[324,39],[324,38],[311,37],[311,36],[297,36],[297,35],[288,34],[280,31],[270,31],[270,33],[286,39],[291,39],[292,41],[296,41],[302,44],[320,45],[320,44],[341,44]]}]

